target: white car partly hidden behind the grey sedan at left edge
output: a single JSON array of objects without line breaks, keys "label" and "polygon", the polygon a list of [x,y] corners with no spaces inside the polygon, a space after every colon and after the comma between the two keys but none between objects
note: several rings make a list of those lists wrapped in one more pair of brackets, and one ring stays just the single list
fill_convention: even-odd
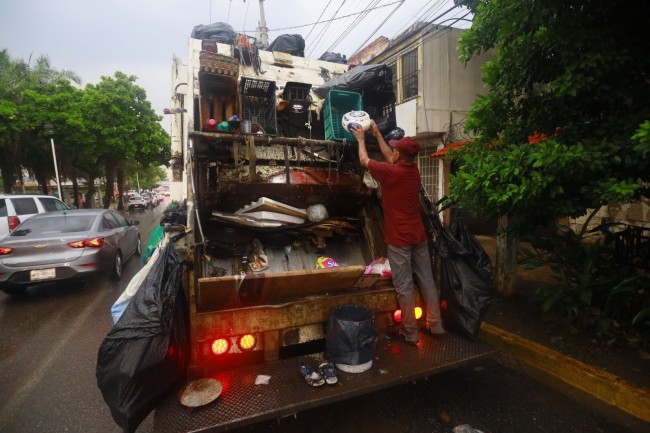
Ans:
[{"label": "white car partly hidden behind the grey sedan at left edge", "polygon": [[0,194],[0,239],[31,216],[67,209],[67,204],[50,195]]}]

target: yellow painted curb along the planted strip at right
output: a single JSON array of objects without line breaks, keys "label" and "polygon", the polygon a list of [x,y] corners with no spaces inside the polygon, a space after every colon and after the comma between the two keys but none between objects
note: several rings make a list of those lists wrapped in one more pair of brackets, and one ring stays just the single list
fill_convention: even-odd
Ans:
[{"label": "yellow painted curb along the planted strip at right", "polygon": [[618,376],[562,355],[545,346],[504,331],[489,323],[481,325],[481,340],[530,366],[544,371],[587,394],[650,422],[650,391]]}]

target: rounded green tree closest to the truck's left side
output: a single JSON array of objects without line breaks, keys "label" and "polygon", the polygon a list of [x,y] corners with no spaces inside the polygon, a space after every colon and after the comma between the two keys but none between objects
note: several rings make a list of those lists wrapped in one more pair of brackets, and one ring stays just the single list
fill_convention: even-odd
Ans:
[{"label": "rounded green tree closest to the truck's left side", "polygon": [[[159,123],[162,116],[155,114],[146,92],[135,81],[135,76],[118,71],[113,77],[103,76],[97,85],[86,86],[84,92],[85,124],[94,137],[93,153],[106,179],[105,208],[116,176],[120,181],[124,178],[127,161],[148,167],[169,164],[171,157],[169,135]],[[118,191],[118,209],[123,209],[121,183]]]}]

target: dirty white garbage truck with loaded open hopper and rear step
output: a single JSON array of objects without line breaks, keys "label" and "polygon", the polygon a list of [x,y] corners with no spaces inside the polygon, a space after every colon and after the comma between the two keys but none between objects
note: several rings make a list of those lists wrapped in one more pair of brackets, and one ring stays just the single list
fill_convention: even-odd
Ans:
[{"label": "dirty white garbage truck with loaded open hopper and rear step", "polygon": [[[280,419],[494,353],[453,332],[419,347],[387,337],[399,306],[381,191],[341,118],[365,111],[382,133],[397,127],[390,67],[284,51],[193,32],[187,62],[173,60],[166,113],[172,198],[187,214],[174,248],[192,263],[182,279],[189,347],[184,380],[155,408],[156,432]],[[371,137],[368,150],[381,159]],[[435,270],[438,216],[424,200],[421,210]],[[370,313],[358,322],[374,329],[372,350],[363,369],[337,369],[337,386],[315,392],[301,368],[326,361],[332,315],[346,308]],[[342,319],[358,331],[354,314]]]}]

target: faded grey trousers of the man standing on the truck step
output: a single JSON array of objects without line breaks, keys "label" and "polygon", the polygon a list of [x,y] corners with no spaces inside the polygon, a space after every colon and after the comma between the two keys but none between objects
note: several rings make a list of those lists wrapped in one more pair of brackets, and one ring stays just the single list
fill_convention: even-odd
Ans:
[{"label": "faded grey trousers of the man standing on the truck step", "polygon": [[388,245],[388,260],[393,274],[393,285],[397,292],[397,302],[402,310],[400,333],[408,341],[418,340],[418,325],[415,319],[415,284],[417,278],[420,294],[426,303],[427,326],[433,333],[444,332],[440,317],[440,300],[433,280],[431,258],[427,243],[404,248]]}]

